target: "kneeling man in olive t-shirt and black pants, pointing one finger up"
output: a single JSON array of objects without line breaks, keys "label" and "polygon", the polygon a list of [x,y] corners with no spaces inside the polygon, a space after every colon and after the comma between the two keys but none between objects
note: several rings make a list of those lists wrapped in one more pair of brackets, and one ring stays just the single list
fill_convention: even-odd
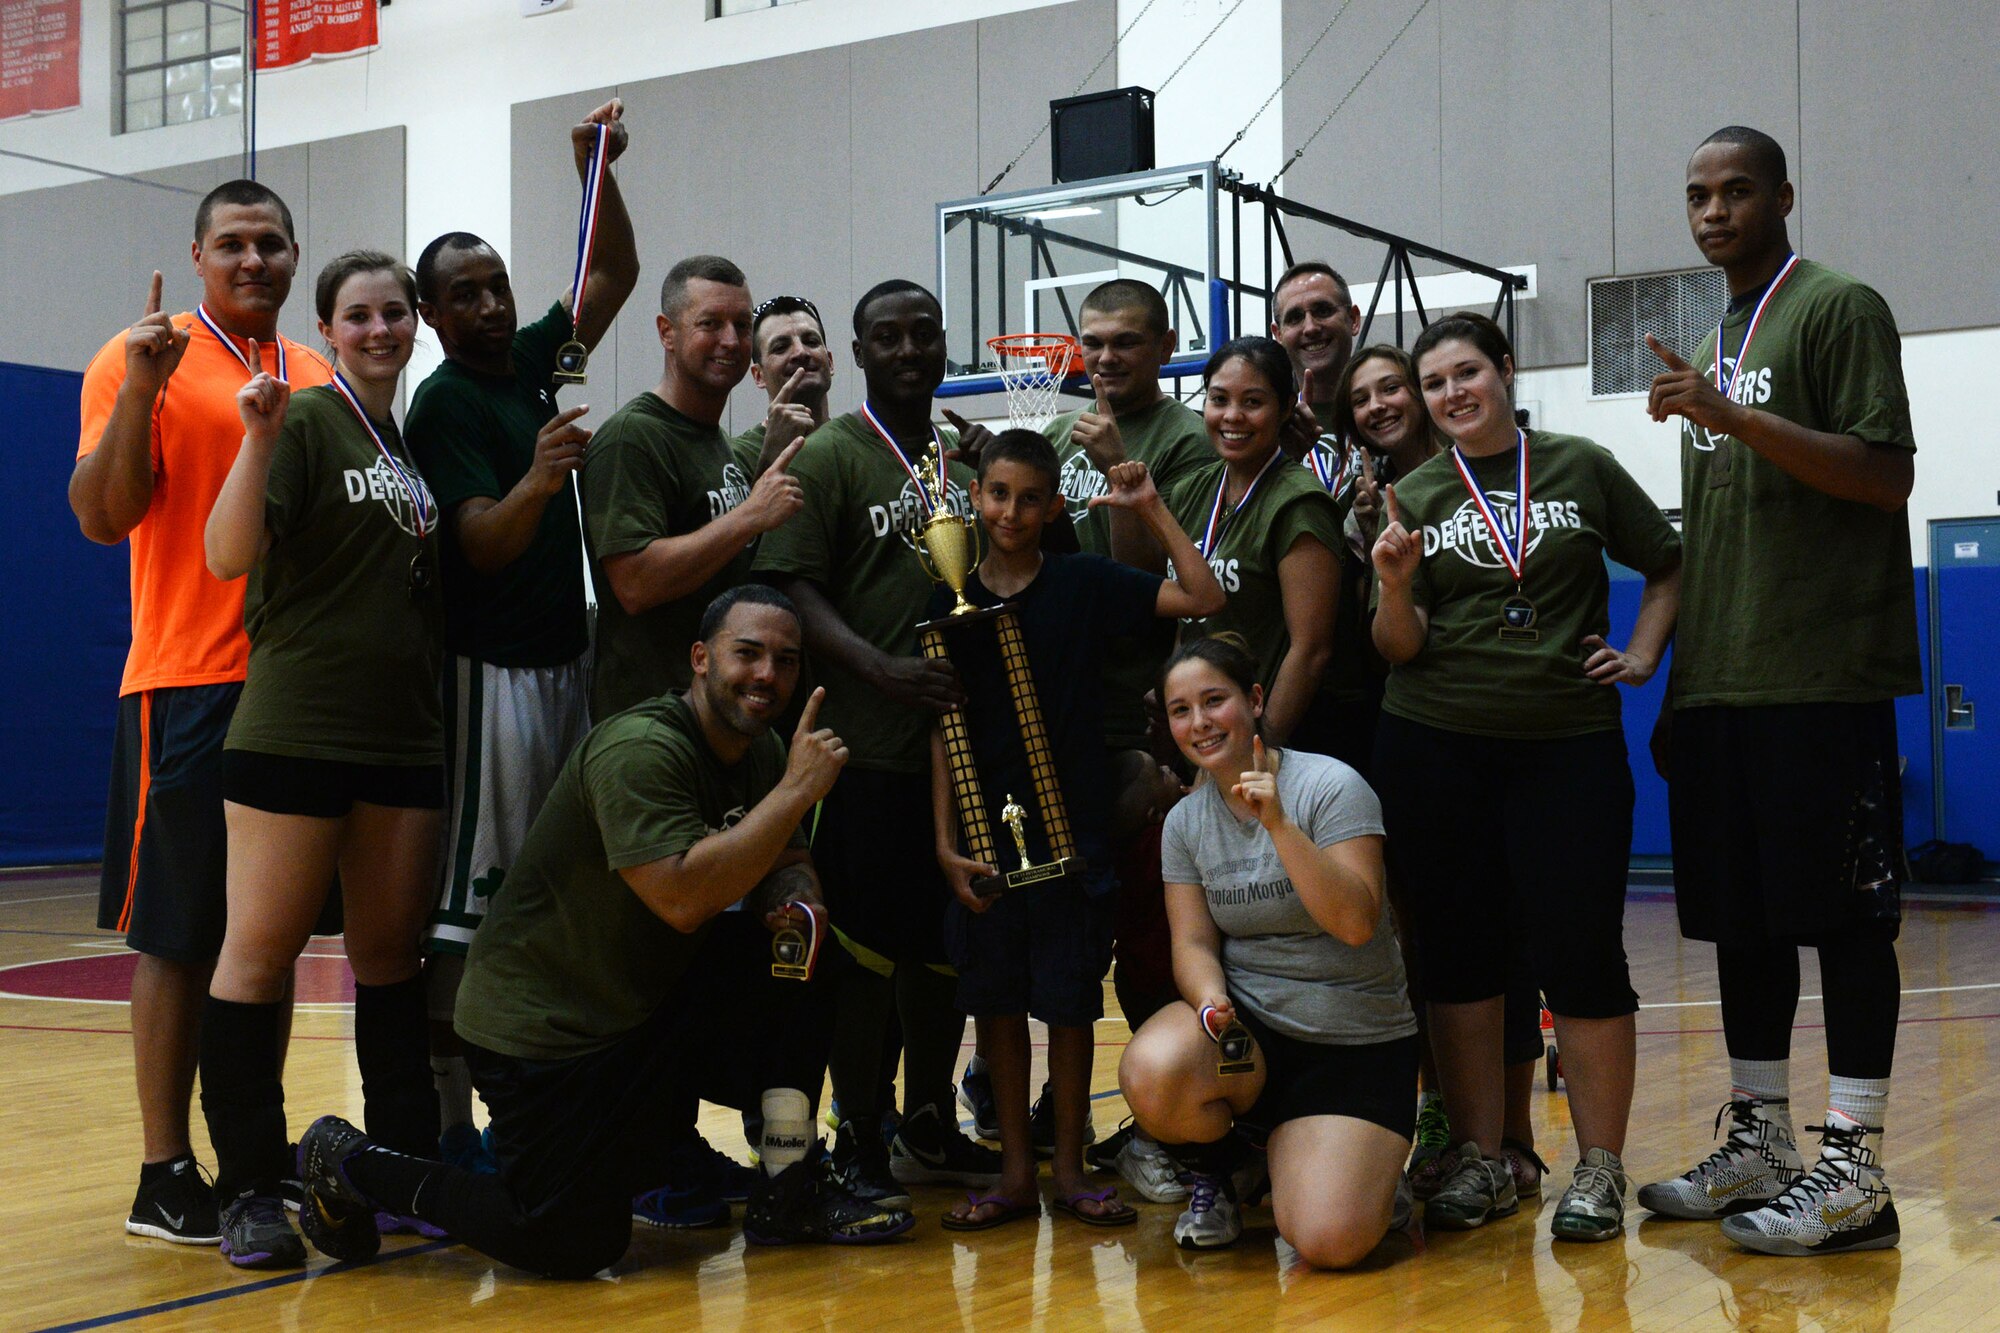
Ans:
[{"label": "kneeling man in olive t-shirt and black pants, pointing one finger up", "polygon": [[[848,1195],[812,1133],[818,987],[758,975],[768,935],[762,957],[718,947],[730,917],[782,931],[820,915],[802,821],[848,751],[818,725],[822,693],[790,751],[772,735],[800,656],[792,604],[732,588],[706,608],[692,689],[576,747],[472,941],[458,1005],[500,1173],[390,1153],[322,1117],[300,1143],[300,1225],[322,1253],[372,1255],[374,1211],[394,1209],[518,1269],[590,1277],[624,1255],[632,1195],[670,1169],[660,1105],[688,1095],[762,1109],[752,1243],[910,1229]],[[788,1041],[802,1029],[820,1041]]]}]

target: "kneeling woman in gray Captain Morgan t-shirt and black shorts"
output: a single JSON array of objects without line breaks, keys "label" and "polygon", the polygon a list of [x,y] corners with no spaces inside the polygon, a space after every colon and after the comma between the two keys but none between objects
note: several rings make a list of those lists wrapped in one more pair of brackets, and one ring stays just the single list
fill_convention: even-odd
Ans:
[{"label": "kneeling woman in gray Captain Morgan t-shirt and black shorts", "polygon": [[1188,1173],[1184,1249],[1242,1235],[1232,1173],[1248,1143],[1270,1153],[1278,1235],[1314,1267],[1348,1267],[1408,1213],[1416,1121],[1382,807],[1336,759],[1266,751],[1256,662],[1228,634],[1182,644],[1160,701],[1202,771],[1160,843],[1182,1003],[1132,1037],[1118,1087]]}]

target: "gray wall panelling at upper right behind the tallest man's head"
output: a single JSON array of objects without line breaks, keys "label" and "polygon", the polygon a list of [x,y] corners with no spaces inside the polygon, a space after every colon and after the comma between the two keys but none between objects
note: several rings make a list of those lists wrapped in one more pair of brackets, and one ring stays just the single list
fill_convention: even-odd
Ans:
[{"label": "gray wall panelling at upper right behind the tallest man's head", "polygon": [[[1286,0],[1286,68],[1336,8]],[[1286,88],[1288,152],[1414,8],[1340,18]],[[1576,364],[1590,278],[1702,264],[1688,154],[1750,124],[1786,148],[1802,254],[1880,290],[1904,332],[1974,328],[2000,324],[1996,104],[1986,0],[1432,0],[1284,184],[1444,250],[1536,264],[1522,364]],[[1382,248],[1336,244],[1332,262],[1374,282]]]}]

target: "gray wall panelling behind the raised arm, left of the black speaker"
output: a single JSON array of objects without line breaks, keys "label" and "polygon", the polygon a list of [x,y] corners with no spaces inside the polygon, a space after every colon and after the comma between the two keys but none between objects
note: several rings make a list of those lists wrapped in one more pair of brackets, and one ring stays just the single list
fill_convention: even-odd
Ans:
[{"label": "gray wall panelling behind the raised arm, left of the black speaker", "polygon": [[[932,208],[992,180],[1118,36],[1114,0],[774,60],[652,78],[514,106],[514,246],[522,312],[540,312],[576,264],[576,166],[568,130],[624,98],[632,148],[618,184],[638,232],[640,280],[590,384],[564,394],[602,422],[660,378],[660,278],[688,254],[726,254],[750,292],[806,296],[834,344],[834,410],[860,400],[848,350],[854,298],[882,278],[936,286]],[[1110,88],[1116,62],[1090,82]],[[1048,138],[1004,190],[1048,184]],[[412,236],[412,246],[428,238]],[[1004,410],[1004,408],[1002,408]],[[764,414],[746,378],[724,426]]]}]

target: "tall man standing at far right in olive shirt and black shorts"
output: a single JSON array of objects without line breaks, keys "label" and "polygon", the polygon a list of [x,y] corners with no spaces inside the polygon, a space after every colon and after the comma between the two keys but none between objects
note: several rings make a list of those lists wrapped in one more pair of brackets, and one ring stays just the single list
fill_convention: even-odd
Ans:
[{"label": "tall man standing at far right in olive shirt and black shorts", "polygon": [[[1792,252],[1792,198],[1776,140],[1710,134],[1688,160],[1688,226],[1730,306],[1692,362],[1648,336],[1666,364],[1648,408],[1682,418],[1674,897],[1682,935],[1716,945],[1734,1125],[1638,1199],[1730,1213],[1724,1235],[1762,1253],[1826,1255],[1900,1239],[1880,1153],[1902,985],[1894,699],[1922,689],[1916,438],[1888,304]],[[1810,1171],[1790,1111],[1808,945],[1832,1075]]]}]

